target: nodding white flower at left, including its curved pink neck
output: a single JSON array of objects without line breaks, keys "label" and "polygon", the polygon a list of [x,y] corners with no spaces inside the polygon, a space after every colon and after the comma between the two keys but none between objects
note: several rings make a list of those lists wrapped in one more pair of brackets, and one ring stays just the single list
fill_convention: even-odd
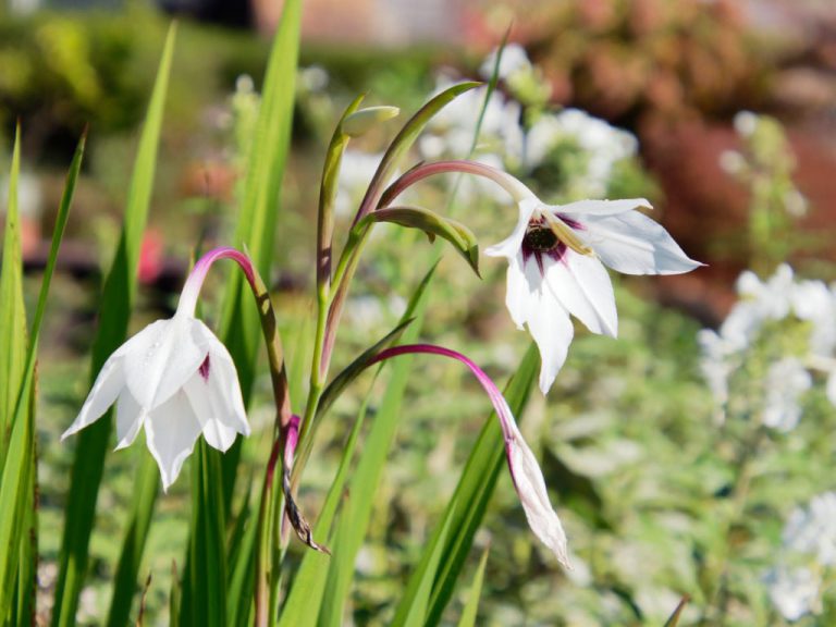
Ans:
[{"label": "nodding white flower at left, including its curved pink neck", "polygon": [[237,433],[249,435],[232,357],[194,317],[212,261],[237,254],[249,263],[241,253],[230,250],[218,249],[198,261],[173,318],[152,322],[108,358],[61,440],[91,425],[116,403],[116,450],[130,446],[145,427],[148,450],[168,490],[201,433],[219,451],[232,446]]}]

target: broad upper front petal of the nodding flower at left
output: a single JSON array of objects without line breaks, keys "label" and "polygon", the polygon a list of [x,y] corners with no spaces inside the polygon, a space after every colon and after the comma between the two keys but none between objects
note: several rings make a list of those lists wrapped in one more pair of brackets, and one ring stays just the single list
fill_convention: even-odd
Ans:
[{"label": "broad upper front petal of the nodding flower at left", "polygon": [[168,401],[197,371],[207,348],[195,343],[193,318],[158,320],[133,337],[125,354],[125,382],[137,403],[150,411]]}]

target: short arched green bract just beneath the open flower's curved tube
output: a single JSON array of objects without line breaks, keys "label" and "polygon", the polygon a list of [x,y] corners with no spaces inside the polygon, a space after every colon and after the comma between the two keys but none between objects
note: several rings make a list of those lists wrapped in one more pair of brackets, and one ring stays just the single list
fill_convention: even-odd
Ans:
[{"label": "short arched green bract just beneath the open flower's curved tube", "polygon": [[474,232],[460,222],[421,207],[386,207],[378,209],[366,216],[357,224],[357,228],[362,229],[370,222],[391,222],[407,229],[419,229],[427,234],[430,242],[433,242],[438,235],[450,242],[456,249],[456,253],[462,255],[470,268],[474,269],[477,276],[479,275],[479,244]]}]

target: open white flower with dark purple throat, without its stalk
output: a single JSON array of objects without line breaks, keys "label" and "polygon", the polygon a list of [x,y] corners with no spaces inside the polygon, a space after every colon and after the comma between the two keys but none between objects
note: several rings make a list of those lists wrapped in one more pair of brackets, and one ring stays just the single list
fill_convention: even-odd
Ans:
[{"label": "open white flower with dark purple throat, without its stalk", "polygon": [[636,210],[650,207],[642,198],[564,206],[544,205],[533,195],[518,198],[514,232],[485,254],[508,259],[505,303],[517,327],[527,324],[540,348],[540,389],[546,393],[571,343],[569,315],[593,333],[617,334],[604,265],[627,274],[677,274],[701,263]]}]

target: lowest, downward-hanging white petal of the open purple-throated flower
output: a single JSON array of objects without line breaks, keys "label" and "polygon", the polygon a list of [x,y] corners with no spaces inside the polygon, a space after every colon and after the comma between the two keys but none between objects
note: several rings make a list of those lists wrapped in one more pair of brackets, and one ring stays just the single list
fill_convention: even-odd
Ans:
[{"label": "lowest, downward-hanging white petal of the open purple-throated flower", "polygon": [[531,337],[540,349],[540,390],[546,394],[566,361],[566,353],[575,330],[569,320],[569,312],[551,292],[543,287],[534,296],[537,297],[531,299],[526,321]]}]

